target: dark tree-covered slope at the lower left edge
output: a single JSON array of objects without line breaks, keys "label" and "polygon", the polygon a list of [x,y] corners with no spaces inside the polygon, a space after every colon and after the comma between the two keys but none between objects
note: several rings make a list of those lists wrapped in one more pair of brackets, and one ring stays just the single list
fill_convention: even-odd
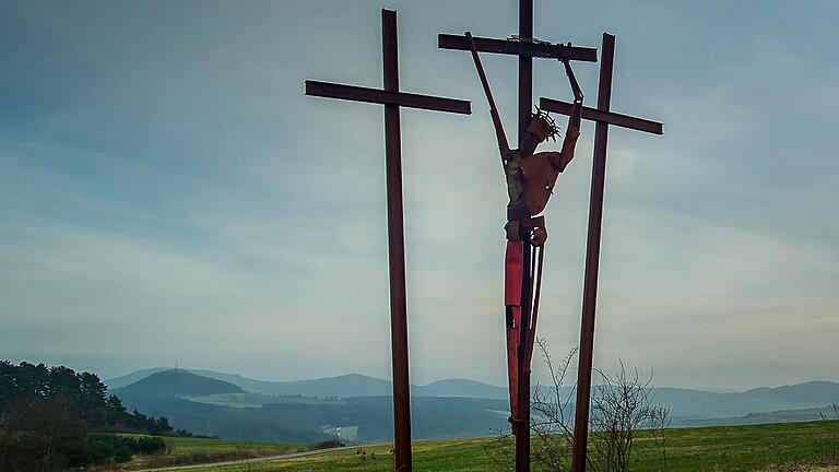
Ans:
[{"label": "dark tree-covered slope at the lower left edge", "polygon": [[0,470],[59,471],[165,448],[92,434],[103,432],[189,435],[165,416],[129,412],[95,374],[0,361]]}]

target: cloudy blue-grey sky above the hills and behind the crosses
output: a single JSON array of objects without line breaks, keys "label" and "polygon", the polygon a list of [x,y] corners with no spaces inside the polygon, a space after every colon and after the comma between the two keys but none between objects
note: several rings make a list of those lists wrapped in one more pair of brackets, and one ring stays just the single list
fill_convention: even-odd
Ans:
[{"label": "cloudy blue-grey sky above the hills and behind the crosses", "polygon": [[[516,34],[511,0],[3,1],[0,358],[389,378],[382,111],[303,93],[381,85],[381,8],[402,90],[473,103],[402,111],[411,379],[505,385],[506,191],[473,63],[436,35]],[[613,110],[665,123],[610,131],[595,367],[839,381],[839,4],[535,11],[542,39],[615,34]],[[512,132],[516,60],[484,64]],[[593,105],[598,67],[575,70]],[[570,97],[556,61],[534,75]],[[579,339],[592,142],[545,213],[555,356]]]}]

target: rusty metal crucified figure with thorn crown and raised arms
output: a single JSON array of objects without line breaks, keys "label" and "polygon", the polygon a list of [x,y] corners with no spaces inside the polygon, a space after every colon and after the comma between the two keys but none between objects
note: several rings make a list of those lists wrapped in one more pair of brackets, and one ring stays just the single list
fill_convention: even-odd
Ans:
[{"label": "rusty metal crucified figure with thorn crown and raised arms", "polygon": [[[507,368],[510,390],[510,423],[519,422],[519,368],[530,370],[530,358],[533,354],[533,342],[535,341],[536,315],[539,312],[539,295],[542,282],[542,262],[543,245],[547,239],[544,216],[539,216],[544,211],[547,201],[553,194],[554,186],[559,173],[565,170],[568,163],[574,158],[574,151],[577,146],[577,139],[580,135],[580,120],[582,118],[582,91],[577,78],[571,69],[568,59],[560,59],[565,66],[565,73],[568,75],[568,82],[574,93],[574,106],[568,118],[568,127],[563,139],[562,150],[535,153],[536,148],[548,138],[556,138],[558,131],[551,117],[536,108],[532,115],[527,133],[519,143],[519,149],[511,150],[507,142],[507,134],[504,131],[500,115],[495,106],[493,93],[489,90],[489,83],[481,63],[481,57],[477,54],[475,42],[472,34],[466,32],[466,39],[470,44],[472,58],[475,61],[475,69],[481,78],[481,84],[484,87],[486,99],[489,103],[489,114],[495,126],[495,134],[498,140],[498,150],[501,154],[501,165],[507,180],[507,193],[509,203],[507,204],[507,252],[505,259],[505,309],[507,327]],[[570,44],[569,44],[570,46]],[[539,249],[539,268],[535,273],[535,284],[530,284],[531,291],[522,294],[522,280],[532,274],[524,274],[524,244],[530,244]],[[535,252],[533,256],[535,261]],[[533,268],[533,264],[531,264]],[[535,298],[533,298],[532,288],[535,286]],[[525,298],[527,297],[527,298]],[[524,299],[533,299],[533,311],[523,314],[530,317],[530,328],[525,337],[522,338],[521,320],[522,309],[530,304],[524,305]],[[519,350],[521,342],[525,343],[522,352],[523,359],[519,359]],[[523,361],[523,362],[521,362]]]}]

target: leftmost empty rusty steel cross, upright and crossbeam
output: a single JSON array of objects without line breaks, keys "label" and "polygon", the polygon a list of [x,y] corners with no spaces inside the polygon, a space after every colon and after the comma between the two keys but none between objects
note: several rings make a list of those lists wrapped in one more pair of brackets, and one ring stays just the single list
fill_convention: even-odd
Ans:
[{"label": "leftmost empty rusty steel cross, upright and crossbeam", "polygon": [[306,81],[306,95],[385,105],[385,156],[388,192],[388,258],[390,267],[390,329],[393,363],[393,429],[395,470],[411,471],[411,382],[407,363],[405,241],[402,212],[402,143],[400,107],[469,115],[468,101],[399,91],[397,12],[381,10],[385,88]]}]

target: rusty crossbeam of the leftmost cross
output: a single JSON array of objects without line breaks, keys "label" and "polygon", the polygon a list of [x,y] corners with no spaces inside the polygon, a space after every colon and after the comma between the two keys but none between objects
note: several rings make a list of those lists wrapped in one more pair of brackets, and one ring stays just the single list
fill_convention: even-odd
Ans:
[{"label": "rusty crossbeam of the leftmost cross", "polygon": [[344,85],[332,82],[306,81],[306,95],[324,98],[342,98],[383,105],[398,105],[435,111],[448,111],[463,115],[472,113],[472,103],[456,98],[420,95],[399,91]]}]

